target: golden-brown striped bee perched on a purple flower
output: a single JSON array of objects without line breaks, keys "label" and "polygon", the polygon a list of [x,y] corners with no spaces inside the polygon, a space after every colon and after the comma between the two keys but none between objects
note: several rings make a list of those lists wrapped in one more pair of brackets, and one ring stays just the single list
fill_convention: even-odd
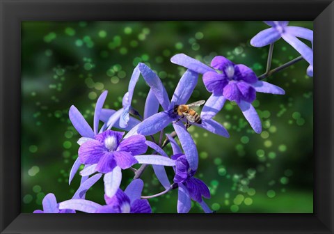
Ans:
[{"label": "golden-brown striped bee perched on a purple flower", "polygon": [[202,119],[200,118],[200,115],[197,114],[196,111],[194,111],[192,108],[199,107],[201,104],[204,104],[205,100],[200,100],[198,102],[193,102],[191,104],[180,104],[174,106],[174,113],[181,116],[178,120],[175,121],[177,123],[182,118],[186,118],[186,123],[189,125],[190,123],[202,123]]}]

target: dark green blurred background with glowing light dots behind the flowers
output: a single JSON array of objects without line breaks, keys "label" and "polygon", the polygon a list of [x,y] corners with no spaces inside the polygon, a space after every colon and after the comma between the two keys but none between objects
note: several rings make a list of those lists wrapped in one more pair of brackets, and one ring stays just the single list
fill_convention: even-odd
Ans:
[{"label": "dark green blurred background with glowing light dots behind the flowers", "polygon": [[[312,22],[290,25],[313,27]],[[72,104],[90,125],[102,91],[109,91],[104,107],[120,109],[139,62],[157,72],[171,96],[185,71],[170,63],[177,53],[208,65],[223,55],[261,75],[269,47],[251,47],[249,41],[267,28],[263,22],[23,22],[22,212],[41,209],[42,198],[50,192],[58,201],[67,200],[79,186],[78,174],[68,185],[79,148],[79,134],[68,118]],[[297,56],[281,39],[272,67]],[[215,117],[230,139],[199,127],[189,129],[200,155],[196,176],[209,186],[212,198],[206,202],[216,212],[313,212],[313,80],[305,75],[307,67],[300,61],[267,79],[286,95],[257,93],[253,105],[262,119],[262,134],[251,130],[231,102]],[[147,93],[140,79],[133,105],[141,113]],[[209,95],[199,79],[189,102]],[[166,150],[170,153],[169,146]],[[132,171],[123,172],[122,189],[132,176]],[[164,190],[152,168],[142,178],[144,195]],[[101,180],[86,198],[104,204],[103,191]],[[177,190],[150,199],[150,204],[153,212],[176,212]],[[193,203],[191,212],[202,210]]]}]

